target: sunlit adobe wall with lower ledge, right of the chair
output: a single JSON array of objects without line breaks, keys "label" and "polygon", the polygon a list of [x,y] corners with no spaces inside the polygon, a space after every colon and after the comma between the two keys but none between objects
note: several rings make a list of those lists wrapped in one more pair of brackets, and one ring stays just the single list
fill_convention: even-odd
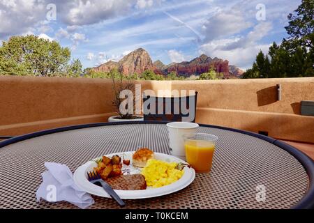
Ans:
[{"label": "sunlit adobe wall with lower ledge, right of the chair", "polygon": [[[277,100],[276,84],[281,84]],[[314,78],[227,79],[172,82],[172,89],[198,91],[196,121],[278,139],[314,143],[314,117],[301,116],[301,100],[314,100]]]}]

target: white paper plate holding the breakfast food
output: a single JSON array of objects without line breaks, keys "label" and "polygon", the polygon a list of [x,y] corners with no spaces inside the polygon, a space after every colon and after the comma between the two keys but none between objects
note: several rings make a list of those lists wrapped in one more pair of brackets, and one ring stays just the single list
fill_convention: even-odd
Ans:
[{"label": "white paper plate holding the breakfast food", "polygon": [[[132,165],[132,155],[134,152],[124,152],[124,153],[112,153],[109,155],[105,155],[107,157],[112,157],[112,155],[119,155],[121,158],[124,155],[126,160],[130,160],[130,165],[126,166],[125,164],[122,167],[122,172],[124,174],[140,174],[141,169],[137,167],[133,167]],[[101,157],[98,157],[94,160],[97,160]],[[167,155],[163,153],[155,153],[156,160],[163,160],[166,162],[184,162],[184,160],[179,159],[178,157],[174,157],[172,155]],[[78,185],[82,190],[88,192],[89,194],[94,194],[100,197],[109,197],[110,195],[103,190],[103,187],[99,187],[98,185],[94,185],[90,183],[87,178],[87,172],[91,171],[94,167],[97,167],[96,162],[89,161],[82,166],[78,167],[74,172],[74,182]],[[177,180],[176,182],[166,185],[163,187],[152,188],[147,187],[146,190],[114,190],[117,192],[121,199],[144,199],[149,197],[159,197],[165,194],[171,194],[173,192],[177,192],[179,190],[184,189],[193,182],[195,178],[195,171],[193,168],[184,167],[184,175]]]}]

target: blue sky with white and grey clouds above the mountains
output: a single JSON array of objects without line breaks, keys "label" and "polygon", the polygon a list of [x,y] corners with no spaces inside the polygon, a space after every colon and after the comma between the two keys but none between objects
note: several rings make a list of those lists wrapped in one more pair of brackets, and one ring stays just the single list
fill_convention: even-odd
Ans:
[{"label": "blue sky with white and grey clouds above the mountains", "polygon": [[245,69],[260,49],[268,52],[272,42],[281,43],[287,36],[287,14],[300,3],[0,0],[0,40],[27,34],[57,40],[84,68],[117,61],[143,47],[153,61],[165,64],[204,53]]}]

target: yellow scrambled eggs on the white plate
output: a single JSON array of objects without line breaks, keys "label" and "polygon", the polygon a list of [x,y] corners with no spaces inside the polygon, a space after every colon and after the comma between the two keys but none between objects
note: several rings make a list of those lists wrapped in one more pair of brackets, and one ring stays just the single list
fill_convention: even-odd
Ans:
[{"label": "yellow scrambled eggs on the white plate", "polygon": [[176,165],[176,162],[148,160],[146,166],[142,169],[142,175],[145,177],[147,186],[163,187],[179,180],[183,176],[184,171],[174,169]]}]

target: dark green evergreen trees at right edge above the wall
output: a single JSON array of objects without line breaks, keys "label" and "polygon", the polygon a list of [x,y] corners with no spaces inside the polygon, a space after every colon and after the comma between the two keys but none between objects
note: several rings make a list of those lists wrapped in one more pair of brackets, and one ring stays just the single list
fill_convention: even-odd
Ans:
[{"label": "dark green evergreen trees at right edge above the wall", "polygon": [[243,78],[266,77],[312,77],[314,76],[314,1],[302,0],[301,5],[287,18],[285,27],[288,38],[281,45],[273,43],[269,56],[261,52],[251,69],[246,70]]}]

